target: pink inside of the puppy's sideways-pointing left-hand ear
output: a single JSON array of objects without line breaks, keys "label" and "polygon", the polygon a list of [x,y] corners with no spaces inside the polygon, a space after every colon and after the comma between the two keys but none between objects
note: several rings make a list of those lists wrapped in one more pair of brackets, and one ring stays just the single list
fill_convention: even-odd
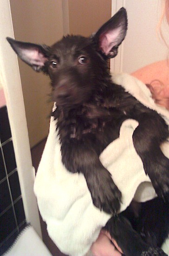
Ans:
[{"label": "pink inside of the puppy's sideways-pointing left-hand ear", "polygon": [[31,65],[36,66],[44,66],[45,61],[47,61],[47,58],[39,52],[39,49],[25,49],[24,50],[25,60],[29,62]]}]

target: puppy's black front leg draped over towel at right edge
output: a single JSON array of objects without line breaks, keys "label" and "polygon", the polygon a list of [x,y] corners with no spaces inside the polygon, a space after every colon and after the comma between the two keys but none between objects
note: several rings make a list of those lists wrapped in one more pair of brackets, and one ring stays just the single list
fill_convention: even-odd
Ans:
[{"label": "puppy's black front leg draped over towel at right edge", "polygon": [[157,195],[169,200],[169,159],[160,148],[160,144],[169,136],[168,126],[153,111],[140,114],[137,120],[139,125],[133,133],[134,147]]}]

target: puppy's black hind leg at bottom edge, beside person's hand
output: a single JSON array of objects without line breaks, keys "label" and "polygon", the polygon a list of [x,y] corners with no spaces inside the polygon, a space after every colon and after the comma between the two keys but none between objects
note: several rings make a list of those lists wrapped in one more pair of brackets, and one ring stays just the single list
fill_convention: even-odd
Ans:
[{"label": "puppy's black hind leg at bottom edge, beside person's hand", "polygon": [[111,217],[104,228],[116,240],[125,256],[167,256],[160,248],[152,248],[122,215]]}]

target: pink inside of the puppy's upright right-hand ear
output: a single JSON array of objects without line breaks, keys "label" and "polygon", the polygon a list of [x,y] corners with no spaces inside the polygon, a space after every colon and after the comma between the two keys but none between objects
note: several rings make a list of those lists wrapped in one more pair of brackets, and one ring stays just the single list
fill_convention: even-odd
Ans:
[{"label": "pink inside of the puppy's upright right-hand ear", "polygon": [[108,55],[112,47],[120,43],[120,32],[121,27],[117,27],[116,29],[110,30],[100,36],[100,48],[104,54]]}]

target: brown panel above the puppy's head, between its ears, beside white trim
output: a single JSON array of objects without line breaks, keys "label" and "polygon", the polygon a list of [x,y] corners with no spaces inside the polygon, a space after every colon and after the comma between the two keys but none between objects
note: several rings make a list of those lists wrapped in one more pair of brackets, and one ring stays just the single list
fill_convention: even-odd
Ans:
[{"label": "brown panel above the puppy's head, between its ears, beside white trim", "polygon": [[70,34],[89,36],[111,18],[111,0],[69,0]]}]

